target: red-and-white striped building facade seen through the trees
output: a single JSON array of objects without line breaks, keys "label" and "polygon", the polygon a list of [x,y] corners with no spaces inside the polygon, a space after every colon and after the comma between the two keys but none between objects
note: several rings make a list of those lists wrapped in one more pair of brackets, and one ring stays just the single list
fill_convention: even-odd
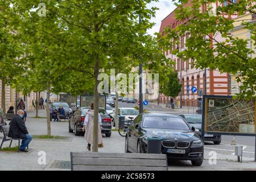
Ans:
[{"label": "red-and-white striped building facade seen through the trees", "polygon": [[[212,3],[213,12],[215,9],[217,9],[218,6],[226,6],[229,2],[226,3]],[[191,2],[188,2],[184,5],[184,7],[192,6]],[[201,6],[201,11],[205,12],[207,11],[207,5]],[[235,18],[237,15],[234,14],[232,16],[222,14],[222,16],[225,16],[226,18]],[[184,22],[188,22],[188,20],[185,20]],[[162,20],[161,26],[160,26],[160,34],[163,34],[164,28],[170,27],[175,28],[177,25],[179,25],[180,20],[175,18],[175,10],[172,11],[166,18]],[[179,48],[180,51],[186,49],[185,47],[185,41],[189,38],[189,32],[185,36],[180,37],[180,43],[176,44],[173,48]],[[220,35],[216,35],[216,40],[218,42],[224,42],[225,39],[223,39]],[[214,45],[214,42],[213,42]],[[164,54],[168,59],[172,59],[175,61],[174,70],[178,72],[179,80],[182,84],[181,89],[181,102],[183,106],[197,106],[197,98],[201,98],[199,96],[200,90],[205,94],[205,81],[206,81],[206,91],[207,94],[211,95],[230,95],[231,94],[231,85],[230,85],[230,75],[229,73],[220,73],[218,70],[210,70],[209,68],[206,68],[204,70],[202,69],[196,69],[191,67],[191,63],[193,60],[189,59],[187,61],[184,61],[183,59],[179,59],[176,55],[172,54],[172,50],[165,51]],[[206,74],[205,74],[206,73]],[[187,88],[189,86],[189,96],[187,94]],[[192,86],[196,86],[197,92],[195,94],[192,94],[191,88]],[[164,96],[163,94],[159,96],[159,102],[162,104],[166,104],[168,102],[168,98]],[[179,106],[180,105],[180,96],[176,98],[176,103]]]}]

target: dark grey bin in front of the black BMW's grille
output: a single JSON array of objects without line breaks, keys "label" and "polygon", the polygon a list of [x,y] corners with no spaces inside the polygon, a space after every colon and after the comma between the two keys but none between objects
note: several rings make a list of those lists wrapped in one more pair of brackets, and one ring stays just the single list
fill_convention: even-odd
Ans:
[{"label": "dark grey bin in front of the black BMW's grille", "polygon": [[147,138],[147,153],[161,154],[162,153],[163,137],[148,137]]}]

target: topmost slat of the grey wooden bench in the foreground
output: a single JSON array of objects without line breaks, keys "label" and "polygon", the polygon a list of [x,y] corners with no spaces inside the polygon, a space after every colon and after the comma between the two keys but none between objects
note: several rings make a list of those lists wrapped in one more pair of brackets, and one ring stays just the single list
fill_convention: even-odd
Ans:
[{"label": "topmost slat of the grey wooden bench in the foreground", "polygon": [[129,159],[166,159],[165,154],[129,154],[129,153],[100,153],[100,152],[72,152],[73,158],[129,158]]}]

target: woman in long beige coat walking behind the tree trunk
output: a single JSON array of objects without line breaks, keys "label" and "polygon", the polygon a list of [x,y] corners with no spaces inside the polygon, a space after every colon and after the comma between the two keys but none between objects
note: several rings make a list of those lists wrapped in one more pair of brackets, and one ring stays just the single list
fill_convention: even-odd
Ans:
[{"label": "woman in long beige coat walking behind the tree trunk", "polygon": [[[87,149],[90,151],[90,146],[93,143],[93,103],[90,105],[90,109],[86,112],[86,117],[84,119],[84,127],[82,128],[82,131],[85,131],[85,139],[88,142]],[[98,147],[103,147],[103,140],[102,140],[102,134],[101,134],[101,115],[98,114]]]}]

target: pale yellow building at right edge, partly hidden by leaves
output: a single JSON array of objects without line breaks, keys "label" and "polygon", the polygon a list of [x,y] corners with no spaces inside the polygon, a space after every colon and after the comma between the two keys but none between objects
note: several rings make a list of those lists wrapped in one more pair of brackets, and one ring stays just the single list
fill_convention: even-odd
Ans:
[{"label": "pale yellow building at right edge, partly hidden by leaves", "polygon": [[[251,39],[251,32],[246,29],[246,27],[242,24],[243,22],[250,22],[255,23],[256,22],[256,14],[245,14],[242,16],[238,16],[237,18],[234,18],[234,29],[231,31],[232,35],[234,37],[245,39],[247,40],[247,48],[250,48],[254,52],[249,55],[251,58],[254,58],[256,55],[256,47],[254,46],[254,40]],[[236,93],[240,92],[240,85],[241,83],[238,83],[236,81],[236,77],[238,75],[232,75],[230,74],[230,88],[231,88],[231,94],[234,95]]]}]

